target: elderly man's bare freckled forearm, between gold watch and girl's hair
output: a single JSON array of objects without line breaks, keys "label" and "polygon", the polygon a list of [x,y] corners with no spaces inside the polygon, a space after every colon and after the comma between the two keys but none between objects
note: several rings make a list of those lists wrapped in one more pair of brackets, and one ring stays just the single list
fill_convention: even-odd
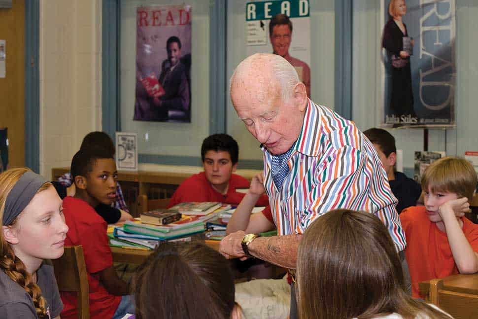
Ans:
[{"label": "elderly man's bare freckled forearm, between gold watch and girl's hair", "polygon": [[297,250],[302,235],[258,237],[247,247],[256,258],[284,268],[296,268]]}]

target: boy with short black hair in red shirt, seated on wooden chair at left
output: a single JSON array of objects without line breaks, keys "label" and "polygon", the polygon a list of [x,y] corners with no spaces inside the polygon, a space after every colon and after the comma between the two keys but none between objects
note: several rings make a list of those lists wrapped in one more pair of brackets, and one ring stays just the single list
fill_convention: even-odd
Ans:
[{"label": "boy with short black hair in red shirt, seated on wooden chair at left", "polygon": [[[103,149],[82,149],[73,156],[71,175],[76,192],[74,197],[63,200],[69,228],[65,246],[83,246],[90,287],[90,318],[122,318],[126,313],[134,313],[134,298],[128,296],[128,284],[118,278],[113,268],[107,224],[94,209],[99,204],[111,205],[116,198],[115,161]],[[60,294],[64,304],[61,317],[77,318],[76,293]]]}]

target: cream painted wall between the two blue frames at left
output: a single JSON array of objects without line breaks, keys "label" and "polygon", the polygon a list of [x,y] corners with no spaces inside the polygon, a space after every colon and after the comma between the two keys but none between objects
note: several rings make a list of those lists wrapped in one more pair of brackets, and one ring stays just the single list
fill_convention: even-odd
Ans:
[{"label": "cream painted wall between the two blue frames at left", "polygon": [[101,130],[101,0],[40,0],[40,174]]}]

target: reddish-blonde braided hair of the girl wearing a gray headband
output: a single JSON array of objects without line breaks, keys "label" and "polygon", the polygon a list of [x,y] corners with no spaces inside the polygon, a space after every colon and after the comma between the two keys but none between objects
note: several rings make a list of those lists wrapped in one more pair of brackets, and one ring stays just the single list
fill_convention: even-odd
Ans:
[{"label": "reddish-blonde braided hair of the girl wearing a gray headband", "polygon": [[[28,168],[16,168],[7,170],[0,174],[0,219],[3,219],[3,212],[5,210],[5,202],[8,194],[10,194],[10,191],[20,177],[22,177],[22,175],[28,171],[30,171]],[[38,189],[37,193],[48,189],[50,186],[50,182],[44,183]],[[16,219],[10,225],[15,225],[15,223]],[[27,293],[32,297],[38,318],[48,318],[46,314],[46,301],[41,295],[40,287],[32,281],[31,274],[27,272],[23,262],[15,256],[13,249],[6,242],[1,230],[0,268],[8,277],[10,277],[11,280],[22,286],[22,288],[25,289],[25,291],[27,291]]]}]

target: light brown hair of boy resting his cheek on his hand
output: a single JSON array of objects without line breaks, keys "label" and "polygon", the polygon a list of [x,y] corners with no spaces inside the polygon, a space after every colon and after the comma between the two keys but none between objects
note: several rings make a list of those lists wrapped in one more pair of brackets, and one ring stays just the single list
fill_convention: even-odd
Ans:
[{"label": "light brown hair of boy resting his cheek on his hand", "polygon": [[422,189],[428,192],[450,192],[469,201],[477,187],[477,173],[464,158],[442,157],[426,168],[421,178]]}]

